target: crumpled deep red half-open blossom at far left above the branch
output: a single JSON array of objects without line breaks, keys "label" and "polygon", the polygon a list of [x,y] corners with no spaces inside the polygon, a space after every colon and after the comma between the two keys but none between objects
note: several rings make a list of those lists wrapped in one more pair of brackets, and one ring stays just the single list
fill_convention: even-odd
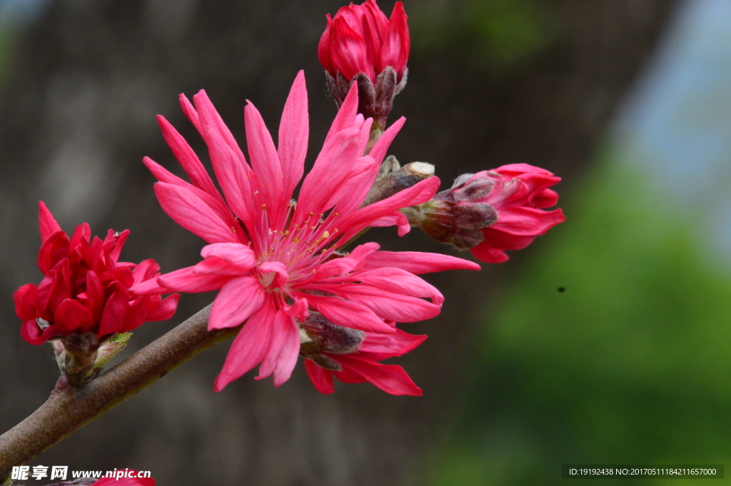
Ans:
[{"label": "crumpled deep red half-open blossom at far left above the branch", "polygon": [[[20,334],[29,343],[83,333],[95,333],[102,341],[175,314],[178,295],[164,300],[159,295],[130,295],[129,287],[155,278],[160,267],[152,259],[139,265],[118,262],[129,230],[110,229],[104,241],[94,237],[90,242],[91,229],[84,223],[69,240],[43,202],[39,226],[43,280],[39,286],[23,285],[13,295],[15,312],[24,320]],[[45,321],[43,327],[37,319]]]}]

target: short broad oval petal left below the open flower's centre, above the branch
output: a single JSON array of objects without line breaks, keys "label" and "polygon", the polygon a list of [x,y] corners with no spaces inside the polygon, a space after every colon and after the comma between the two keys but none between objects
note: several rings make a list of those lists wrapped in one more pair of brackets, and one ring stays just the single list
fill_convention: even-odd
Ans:
[{"label": "short broad oval petal left below the open flower's centre, above the branch", "polygon": [[256,278],[232,278],[213,300],[208,330],[238,326],[262,307],[264,295],[262,284]]}]

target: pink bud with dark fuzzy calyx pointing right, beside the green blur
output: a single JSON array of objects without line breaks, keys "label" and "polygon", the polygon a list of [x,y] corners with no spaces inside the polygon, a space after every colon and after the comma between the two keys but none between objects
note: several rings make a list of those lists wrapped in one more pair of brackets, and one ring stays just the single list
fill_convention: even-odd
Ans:
[{"label": "pink bud with dark fuzzy calyx pointing right, beside the green blur", "polygon": [[505,250],[529,246],[538,235],[566,220],[548,189],[561,181],[548,170],[510,164],[495,170],[461,175],[454,185],[419,208],[409,208],[409,221],[428,235],[468,250],[483,262],[501,263]]}]

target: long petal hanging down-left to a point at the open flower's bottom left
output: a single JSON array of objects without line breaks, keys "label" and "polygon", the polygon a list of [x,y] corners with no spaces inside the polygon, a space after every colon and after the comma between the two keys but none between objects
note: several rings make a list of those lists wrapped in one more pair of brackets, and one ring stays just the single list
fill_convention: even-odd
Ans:
[{"label": "long petal hanging down-left to a point at the open flower's bottom left", "polygon": [[231,344],[224,368],[216,377],[213,390],[220,392],[231,381],[262,362],[269,349],[274,314],[273,305],[265,303],[249,317]]}]

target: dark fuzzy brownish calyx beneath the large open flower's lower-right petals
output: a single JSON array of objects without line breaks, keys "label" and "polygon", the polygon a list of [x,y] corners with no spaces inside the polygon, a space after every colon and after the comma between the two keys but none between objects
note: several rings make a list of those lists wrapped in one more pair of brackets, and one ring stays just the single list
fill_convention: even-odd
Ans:
[{"label": "dark fuzzy brownish calyx beneath the large open flower's lower-right petals", "polygon": [[341,371],[341,365],[327,354],[349,354],[356,352],[366,333],[350,327],[338,326],[317,312],[311,312],[300,324],[300,356],[306,357],[320,368]]}]

